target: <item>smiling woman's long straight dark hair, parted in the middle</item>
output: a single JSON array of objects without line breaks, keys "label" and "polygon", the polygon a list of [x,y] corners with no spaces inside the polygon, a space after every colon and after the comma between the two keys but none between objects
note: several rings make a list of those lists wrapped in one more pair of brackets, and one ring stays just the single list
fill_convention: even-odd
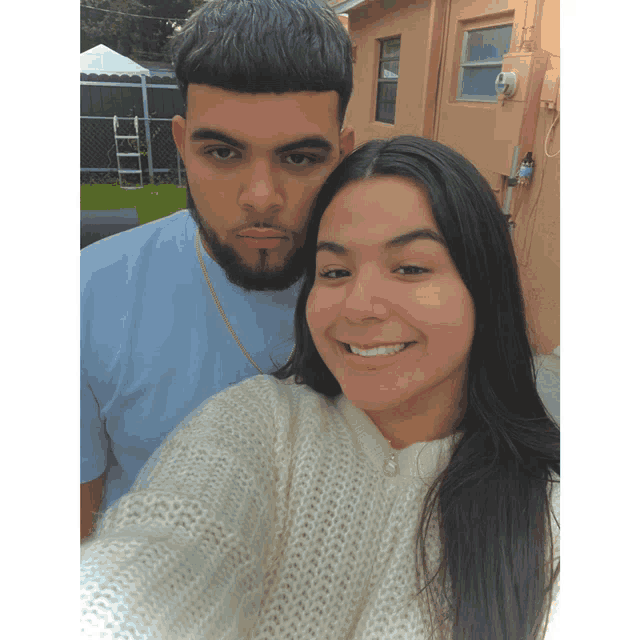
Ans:
[{"label": "smiling woman's long straight dark hair, parted in the middle", "polygon": [[[424,191],[475,305],[462,437],[423,502],[416,536],[423,586],[417,595],[425,592],[422,604],[432,621],[444,620],[436,631],[451,640],[537,638],[559,571],[559,565],[550,568],[548,489],[560,474],[560,431],[536,390],[508,224],[473,165],[440,143],[413,136],[368,142],[343,160],[311,213],[296,348],[273,375],[295,376],[328,397],[341,393],[313,344],[305,310],[322,215],[340,189],[372,176],[409,178]],[[427,530],[434,514],[443,555],[430,571]]]}]

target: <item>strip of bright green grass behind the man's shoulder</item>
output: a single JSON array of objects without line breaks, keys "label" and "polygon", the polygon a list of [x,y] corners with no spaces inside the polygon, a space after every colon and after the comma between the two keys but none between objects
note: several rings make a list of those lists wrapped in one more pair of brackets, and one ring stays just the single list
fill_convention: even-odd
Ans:
[{"label": "strip of bright green grass behind the man's shoulder", "polygon": [[87,210],[136,208],[140,224],[164,218],[187,206],[187,191],[172,184],[148,184],[121,189],[112,184],[80,185],[80,208]]}]

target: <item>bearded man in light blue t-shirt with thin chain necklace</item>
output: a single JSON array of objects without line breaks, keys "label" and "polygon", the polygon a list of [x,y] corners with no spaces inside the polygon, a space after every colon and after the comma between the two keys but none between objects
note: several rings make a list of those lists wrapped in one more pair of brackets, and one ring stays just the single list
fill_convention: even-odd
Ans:
[{"label": "bearded man in light blue t-shirt with thin chain necklace", "polygon": [[173,56],[188,210],[81,253],[81,538],[191,411],[287,360],[310,207],[354,145],[323,0],[214,0]]}]

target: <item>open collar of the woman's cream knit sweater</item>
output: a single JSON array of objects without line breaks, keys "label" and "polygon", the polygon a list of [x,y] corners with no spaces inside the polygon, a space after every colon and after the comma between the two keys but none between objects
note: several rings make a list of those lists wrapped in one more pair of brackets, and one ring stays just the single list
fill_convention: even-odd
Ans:
[{"label": "open collar of the woman's cream knit sweater", "polygon": [[344,395],[336,399],[336,407],[381,474],[384,462],[395,452],[399,476],[432,482],[449,464],[453,448],[462,437],[462,433],[454,433],[440,440],[393,449],[367,414]]}]

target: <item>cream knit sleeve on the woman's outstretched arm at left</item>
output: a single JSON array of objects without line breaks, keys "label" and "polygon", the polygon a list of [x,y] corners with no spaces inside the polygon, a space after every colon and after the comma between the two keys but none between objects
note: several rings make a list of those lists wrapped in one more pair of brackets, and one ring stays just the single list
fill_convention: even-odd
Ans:
[{"label": "cream knit sleeve on the woman's outstretched arm at left", "polygon": [[82,638],[238,638],[259,610],[275,521],[273,383],[193,412],[82,547]]}]

